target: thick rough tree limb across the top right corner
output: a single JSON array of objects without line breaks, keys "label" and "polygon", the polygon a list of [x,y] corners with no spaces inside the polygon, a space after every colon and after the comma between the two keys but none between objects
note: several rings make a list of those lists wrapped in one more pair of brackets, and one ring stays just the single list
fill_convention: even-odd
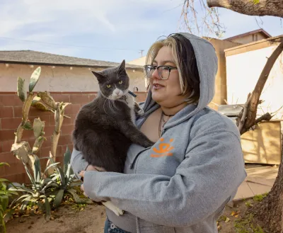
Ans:
[{"label": "thick rough tree limb across the top right corner", "polygon": [[248,16],[283,17],[282,0],[207,0],[209,7],[223,7]]}]

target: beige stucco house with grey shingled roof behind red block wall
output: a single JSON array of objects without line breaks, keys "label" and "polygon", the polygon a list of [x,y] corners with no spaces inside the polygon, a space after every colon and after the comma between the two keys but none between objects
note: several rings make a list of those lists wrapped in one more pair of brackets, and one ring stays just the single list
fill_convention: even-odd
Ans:
[{"label": "beige stucco house with grey shingled roof behind red block wall", "polygon": [[[98,84],[91,70],[115,67],[118,63],[54,55],[30,50],[0,51],[0,92],[16,91],[18,76],[30,79],[33,70],[42,72],[35,91],[96,92]],[[127,64],[131,91],[146,91],[143,67]],[[28,85],[28,83],[26,83]]]}]

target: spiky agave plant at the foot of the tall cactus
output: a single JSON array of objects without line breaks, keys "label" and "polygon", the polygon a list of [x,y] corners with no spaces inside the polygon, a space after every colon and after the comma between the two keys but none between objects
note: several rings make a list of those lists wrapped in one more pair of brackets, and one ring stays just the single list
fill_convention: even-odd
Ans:
[{"label": "spiky agave plant at the foot of the tall cactus", "polygon": [[[47,159],[50,159],[51,163],[42,173],[40,159],[35,155],[33,175],[30,173],[27,164],[22,160],[32,186],[30,188],[24,185],[11,187],[10,191],[23,192],[23,195],[13,200],[10,208],[16,208],[18,205],[21,205],[20,210],[23,211],[28,205],[37,205],[41,210],[45,210],[45,220],[50,220],[51,209],[57,208],[62,203],[62,198],[66,193],[70,193],[76,203],[91,203],[91,200],[80,198],[73,189],[74,186],[79,186],[80,183],[74,182],[76,178],[71,169],[71,152],[69,148],[67,147],[64,154],[63,169],[58,166],[59,162],[54,162],[50,157],[47,157]],[[50,168],[54,169],[54,174],[46,177],[45,174],[47,174],[47,170]]]}]

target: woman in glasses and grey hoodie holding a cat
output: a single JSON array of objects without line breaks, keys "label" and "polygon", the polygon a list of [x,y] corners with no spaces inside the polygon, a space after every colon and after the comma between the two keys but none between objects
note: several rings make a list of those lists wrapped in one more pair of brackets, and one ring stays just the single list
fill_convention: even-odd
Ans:
[{"label": "woman in glasses and grey hoodie holding a cat", "polygon": [[83,176],[89,198],[125,210],[119,217],[107,210],[105,232],[218,232],[216,220],[246,171],[238,128],[207,107],[217,71],[214,47],[176,33],[151,46],[146,64],[150,89],[137,127],[156,144],[132,144],[125,174],[81,171],[87,164],[74,151],[74,172]]}]

